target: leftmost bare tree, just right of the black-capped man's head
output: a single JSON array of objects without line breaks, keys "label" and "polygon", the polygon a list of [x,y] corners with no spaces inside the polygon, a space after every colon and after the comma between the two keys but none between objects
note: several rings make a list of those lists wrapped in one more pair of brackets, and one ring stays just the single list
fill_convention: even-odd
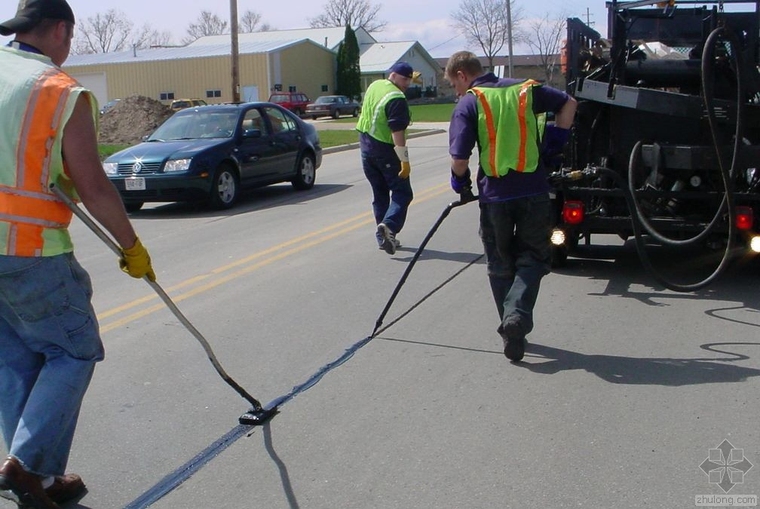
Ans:
[{"label": "leftmost bare tree, just right of the black-capped man's head", "polygon": [[105,14],[95,14],[77,25],[71,51],[81,55],[129,49],[133,26],[124,13],[116,9],[110,9]]}]

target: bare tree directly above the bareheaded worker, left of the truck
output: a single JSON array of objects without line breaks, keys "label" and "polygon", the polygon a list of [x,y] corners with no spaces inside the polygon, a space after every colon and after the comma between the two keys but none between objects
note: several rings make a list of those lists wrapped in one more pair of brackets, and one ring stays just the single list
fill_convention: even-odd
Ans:
[{"label": "bare tree directly above the bareheaded worker, left of the truck", "polygon": [[[510,7],[511,26],[507,2]],[[454,21],[454,28],[465,36],[467,42],[483,50],[491,69],[494,57],[504,45],[511,46],[513,42],[520,40],[516,27],[522,20],[522,10],[515,6],[515,0],[462,0],[459,8],[451,13],[451,19]]]}]

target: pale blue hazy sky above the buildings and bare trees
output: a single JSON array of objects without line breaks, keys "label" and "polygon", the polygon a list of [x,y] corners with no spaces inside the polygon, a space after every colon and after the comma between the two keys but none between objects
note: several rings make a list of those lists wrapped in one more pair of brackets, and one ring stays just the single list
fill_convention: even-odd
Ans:
[{"label": "pale blue hazy sky above the buildings and bare trees", "polygon": [[[121,11],[135,26],[149,24],[159,32],[169,31],[173,42],[185,37],[185,31],[195,23],[202,11],[210,11],[220,18],[228,19],[230,3],[224,0],[68,0],[78,20],[96,14],[105,14],[110,9]],[[273,29],[308,28],[309,19],[322,13],[327,0],[285,0],[253,1],[237,0],[238,15],[245,11],[261,14],[262,21]],[[467,49],[482,55],[477,47],[468,46],[465,38],[452,28],[451,13],[456,11],[461,0],[370,0],[371,5],[380,5],[377,18],[387,23],[381,32],[372,35],[380,42],[419,41],[433,57],[448,57],[455,51]],[[524,11],[526,20],[539,19],[548,14],[550,18],[578,17],[594,22],[593,28],[606,35],[606,9],[604,0],[516,0]],[[12,18],[16,11],[16,0],[0,2],[0,20]],[[0,37],[3,43],[10,40]],[[506,54],[506,47],[503,53]],[[525,45],[516,45],[514,54],[530,54]]]}]

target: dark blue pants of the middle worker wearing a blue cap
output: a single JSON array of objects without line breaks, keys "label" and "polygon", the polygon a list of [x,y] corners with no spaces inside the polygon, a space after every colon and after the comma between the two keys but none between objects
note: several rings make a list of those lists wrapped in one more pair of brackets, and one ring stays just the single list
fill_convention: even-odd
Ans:
[{"label": "dark blue pants of the middle worker wearing a blue cap", "polygon": [[[383,223],[398,233],[406,223],[406,213],[414,197],[410,179],[399,178],[401,163],[393,155],[370,155],[362,152],[362,169],[372,186],[372,211],[375,224]],[[378,239],[380,243],[382,239]]]}]

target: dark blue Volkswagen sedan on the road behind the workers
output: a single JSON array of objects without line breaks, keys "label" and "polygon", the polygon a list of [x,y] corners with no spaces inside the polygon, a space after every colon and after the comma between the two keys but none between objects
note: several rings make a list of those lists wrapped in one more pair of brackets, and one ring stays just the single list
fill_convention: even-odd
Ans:
[{"label": "dark blue Volkswagen sedan on the road behind the workers", "polygon": [[241,189],[277,182],[311,189],[321,163],[314,126],[281,106],[255,102],[178,111],[103,168],[133,212],[167,201],[226,209]]}]

